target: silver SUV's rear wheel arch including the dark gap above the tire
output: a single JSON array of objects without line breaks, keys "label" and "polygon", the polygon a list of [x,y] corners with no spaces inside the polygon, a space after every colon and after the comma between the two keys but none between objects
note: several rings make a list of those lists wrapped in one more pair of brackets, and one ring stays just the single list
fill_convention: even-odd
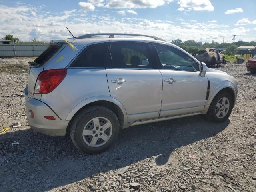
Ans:
[{"label": "silver SUV's rear wheel arch including the dark gap above the tire", "polygon": [[[104,106],[106,108],[109,108],[112,110],[120,123],[120,128],[125,128],[127,124],[127,114],[124,106],[116,99],[109,97],[109,96],[96,96],[92,98],[88,98],[86,100],[83,100],[79,104],[77,104],[68,114],[66,117],[66,120],[69,120],[70,123],[72,122],[74,116],[78,114],[78,112],[88,106]],[[68,126],[69,130],[69,126]]]}]

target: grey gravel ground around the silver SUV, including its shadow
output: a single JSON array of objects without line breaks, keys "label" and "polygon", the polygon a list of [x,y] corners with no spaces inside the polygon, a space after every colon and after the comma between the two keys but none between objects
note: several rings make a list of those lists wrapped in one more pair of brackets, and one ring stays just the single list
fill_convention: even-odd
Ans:
[{"label": "grey gravel ground around the silver SUV, including its shadow", "polygon": [[31,132],[23,91],[29,60],[0,59],[0,130],[22,124],[0,135],[1,191],[256,192],[256,75],[244,64],[218,68],[238,80],[228,121],[192,116],[134,126],[122,130],[107,152],[86,155],[70,136]]}]

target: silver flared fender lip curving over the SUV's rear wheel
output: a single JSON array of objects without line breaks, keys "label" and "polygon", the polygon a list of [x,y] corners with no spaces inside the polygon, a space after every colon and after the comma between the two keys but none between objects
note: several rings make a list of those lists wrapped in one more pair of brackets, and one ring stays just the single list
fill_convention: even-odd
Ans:
[{"label": "silver flared fender lip curving over the SUV's rear wheel", "polygon": [[127,124],[127,113],[124,106],[115,98],[112,98],[110,96],[104,96],[104,95],[89,97],[81,101],[69,112],[68,116],[66,117],[66,120],[71,120],[72,117],[76,114],[76,112],[78,112],[78,110],[80,110],[82,107],[86,106],[87,104],[90,104],[95,101],[109,101],[116,104],[122,110],[122,113],[124,115],[124,126]]}]

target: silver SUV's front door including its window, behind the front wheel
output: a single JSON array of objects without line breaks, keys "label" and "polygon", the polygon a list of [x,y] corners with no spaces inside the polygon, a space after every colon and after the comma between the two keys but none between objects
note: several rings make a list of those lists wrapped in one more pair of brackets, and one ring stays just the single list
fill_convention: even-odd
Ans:
[{"label": "silver SUV's front door including its window, behind the front wheel", "polygon": [[165,44],[155,44],[162,74],[163,92],[160,117],[202,112],[206,101],[207,77],[190,55]]}]

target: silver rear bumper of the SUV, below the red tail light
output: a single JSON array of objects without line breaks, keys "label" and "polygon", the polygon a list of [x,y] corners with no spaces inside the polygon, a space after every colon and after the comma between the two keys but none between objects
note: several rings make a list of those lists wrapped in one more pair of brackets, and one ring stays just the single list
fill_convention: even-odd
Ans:
[{"label": "silver rear bumper of the SUV, below the red tail light", "polygon": [[[26,94],[26,89],[25,99],[28,124],[33,132],[52,136],[63,136],[66,134],[69,121],[61,120],[45,103],[29,97]],[[32,118],[30,110],[34,113],[34,118]],[[48,120],[44,116],[54,116],[55,120]]]}]

